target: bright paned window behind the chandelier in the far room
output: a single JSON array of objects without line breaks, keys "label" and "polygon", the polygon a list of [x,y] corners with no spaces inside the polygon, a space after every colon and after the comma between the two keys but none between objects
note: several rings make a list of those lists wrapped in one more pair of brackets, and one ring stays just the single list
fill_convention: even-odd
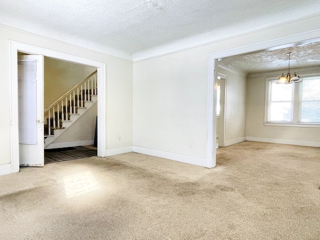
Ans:
[{"label": "bright paned window behind the chandelier in the far room", "polygon": [[320,76],[292,84],[267,78],[265,103],[265,123],[320,124]]}]

